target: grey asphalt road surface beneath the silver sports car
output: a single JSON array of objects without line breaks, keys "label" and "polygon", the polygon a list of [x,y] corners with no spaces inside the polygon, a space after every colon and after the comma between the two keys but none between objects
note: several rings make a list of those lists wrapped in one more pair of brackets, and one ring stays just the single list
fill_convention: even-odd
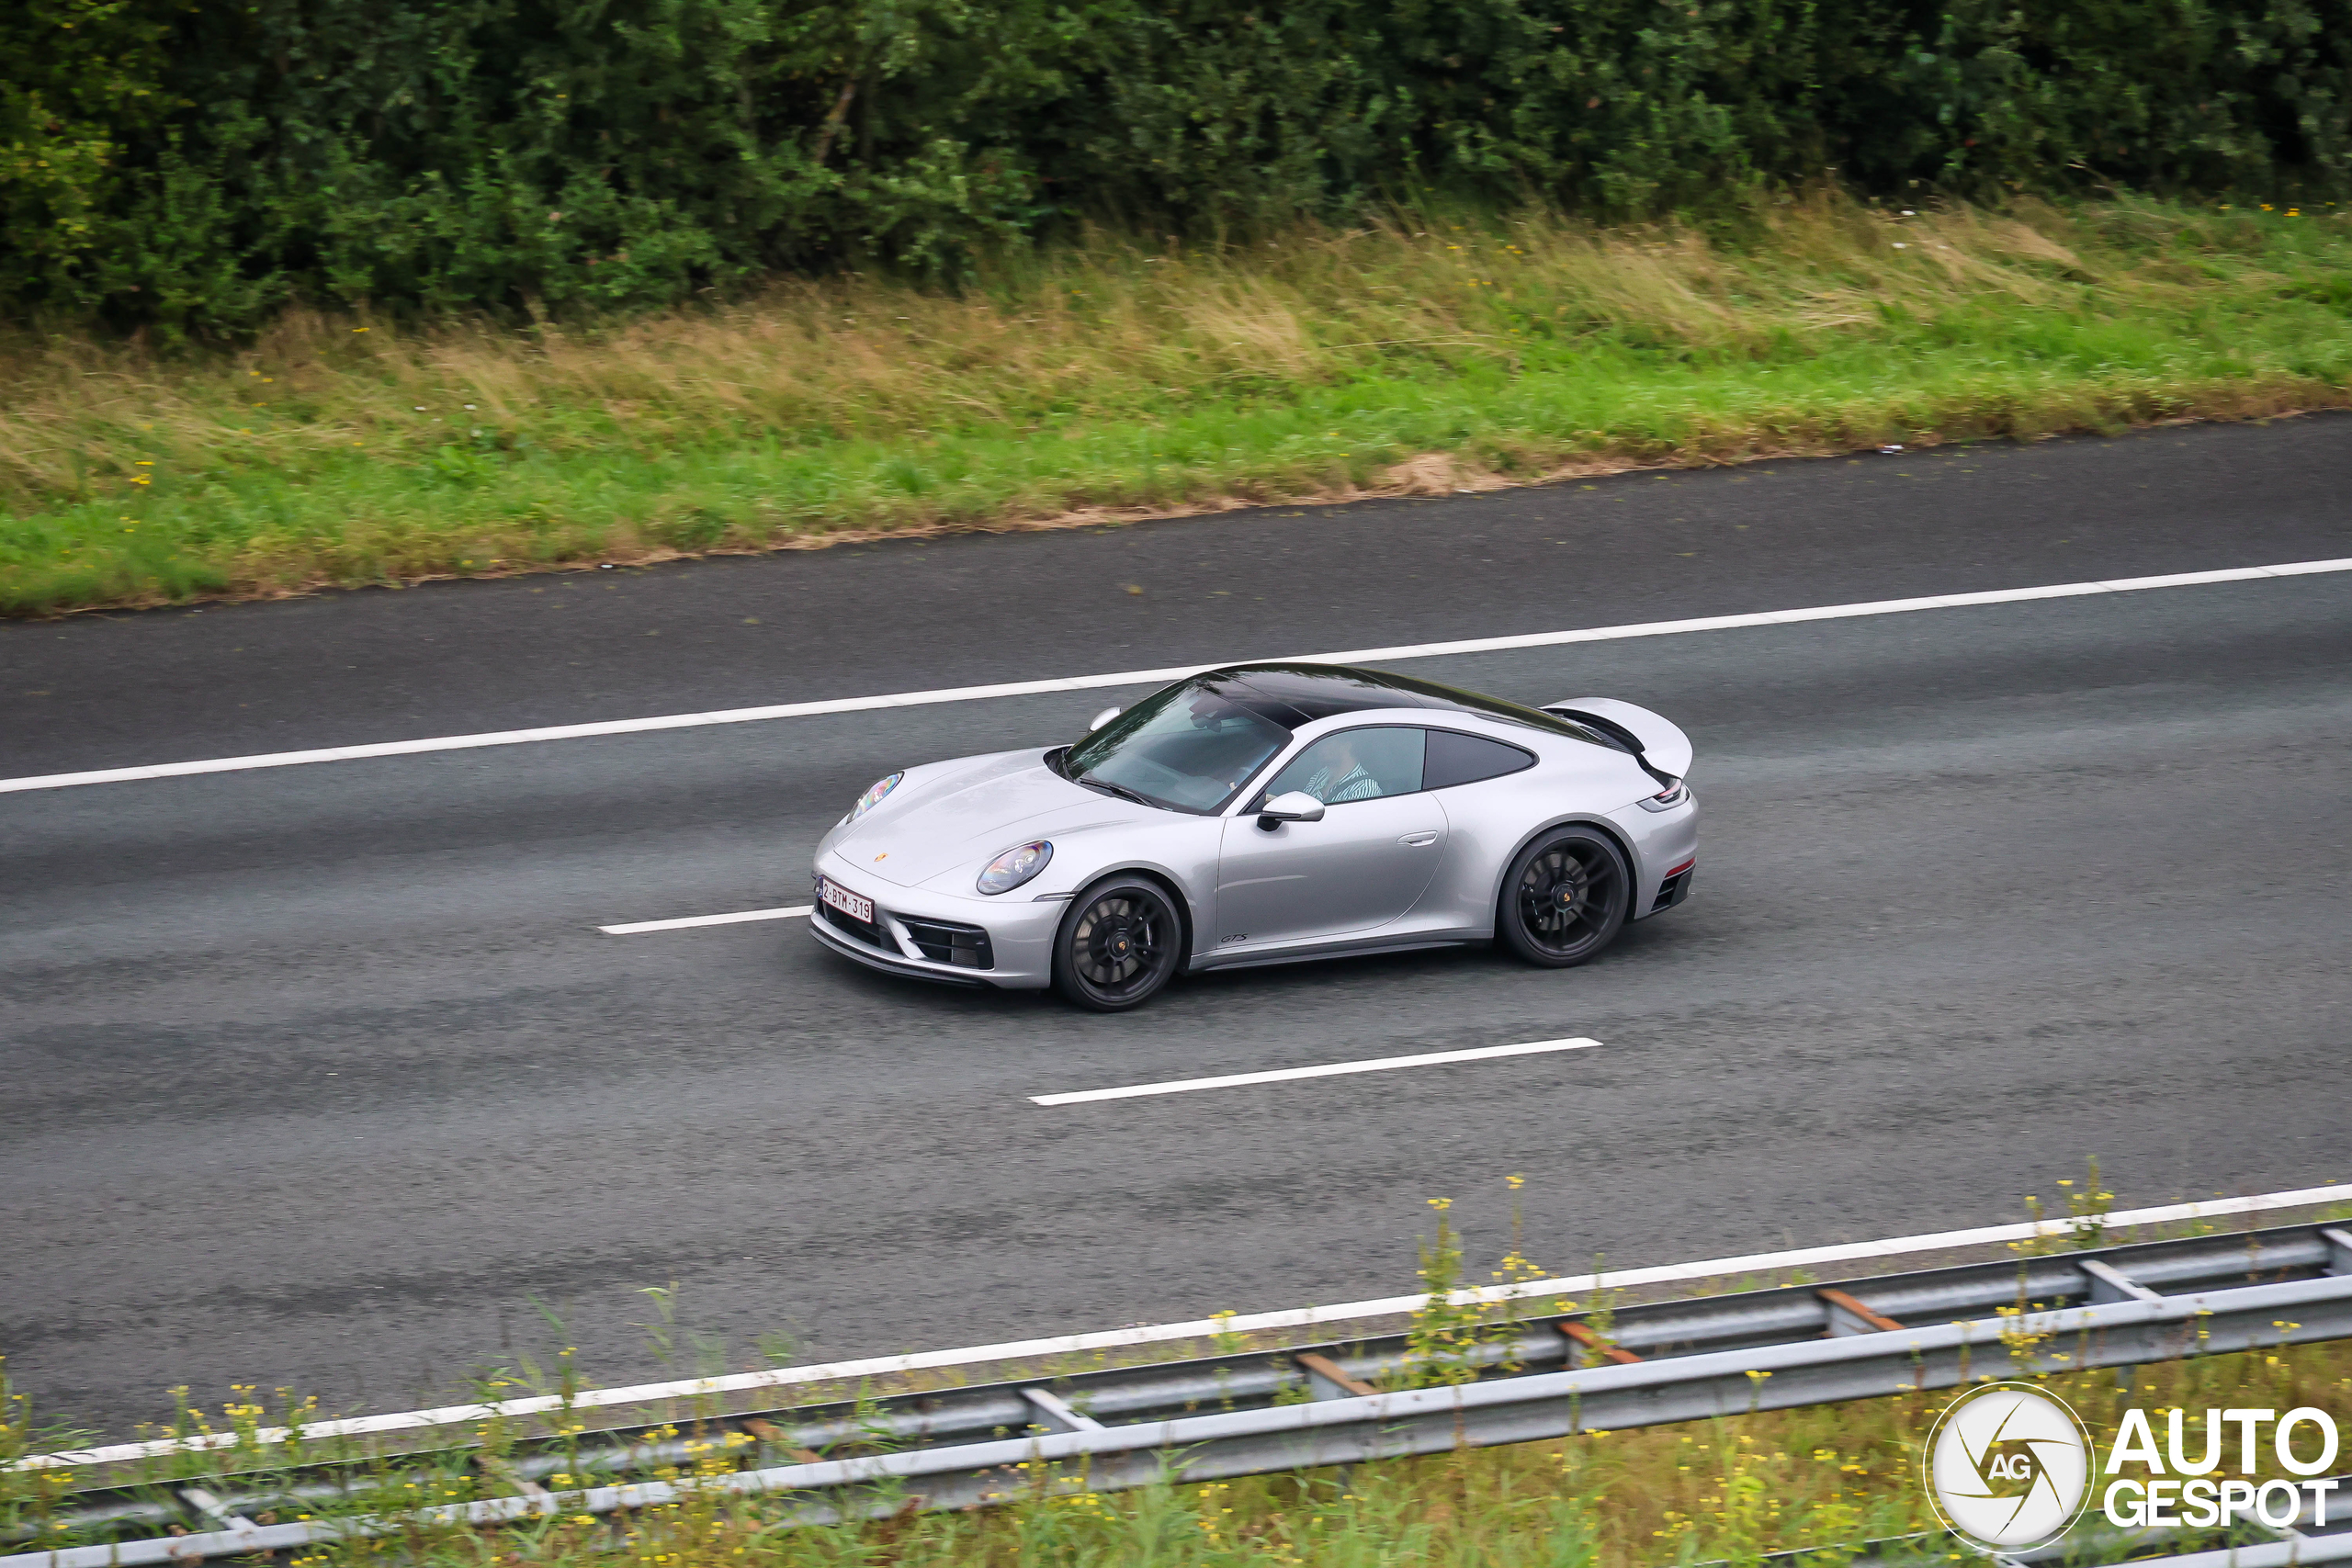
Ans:
[{"label": "grey asphalt road surface beneath the silver sports car", "polygon": [[[2343,557],[2347,496],[2328,418],[7,625],[0,773]],[[673,1281],[677,1368],[1388,1295],[1510,1173],[1559,1269],[2352,1178],[2352,576],[1409,668],[1679,717],[1691,903],[1122,1018],[595,931],[800,903],[873,776],[1091,691],[0,797],[9,1375],[125,1429],[656,1375]]]}]

